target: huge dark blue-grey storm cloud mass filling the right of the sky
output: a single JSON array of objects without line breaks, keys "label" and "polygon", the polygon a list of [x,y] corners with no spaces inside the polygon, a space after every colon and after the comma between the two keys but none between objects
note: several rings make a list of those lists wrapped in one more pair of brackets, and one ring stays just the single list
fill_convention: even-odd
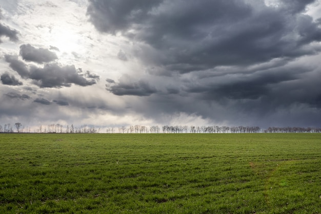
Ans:
[{"label": "huge dark blue-grey storm cloud mass filling the right of the sky", "polygon": [[141,96],[130,106],[146,118],[183,112],[240,125],[321,125],[321,71],[316,59],[303,60],[321,52],[321,19],[304,14],[315,1],[265,2],[89,0],[89,21],[134,41],[130,56],[148,72],[107,79],[106,89]]}]

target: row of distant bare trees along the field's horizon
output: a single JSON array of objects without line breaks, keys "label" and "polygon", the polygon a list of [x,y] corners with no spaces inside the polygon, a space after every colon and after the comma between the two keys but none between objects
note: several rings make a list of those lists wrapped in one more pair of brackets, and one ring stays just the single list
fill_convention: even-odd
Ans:
[{"label": "row of distant bare trees along the field's horizon", "polygon": [[[0,125],[0,133],[83,133],[95,134],[104,132],[101,128],[95,126],[74,126],[62,124],[49,124],[47,126],[40,125],[31,131],[30,127],[25,127],[17,122],[14,125],[10,123],[4,126]],[[123,134],[143,134],[143,133],[321,133],[321,128],[317,127],[268,127],[266,130],[260,129],[258,126],[188,126],[188,125],[164,125],[159,127],[145,125],[130,125],[121,127],[108,127],[106,133],[123,133]]]}]

